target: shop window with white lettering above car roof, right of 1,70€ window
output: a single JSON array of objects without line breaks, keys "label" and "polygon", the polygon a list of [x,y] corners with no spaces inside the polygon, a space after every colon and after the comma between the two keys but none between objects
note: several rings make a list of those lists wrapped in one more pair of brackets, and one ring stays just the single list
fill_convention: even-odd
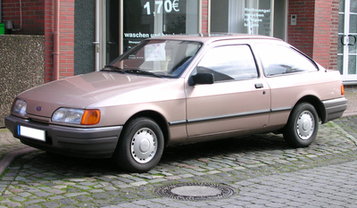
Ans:
[{"label": "shop window with white lettering above car roof, right of 1,70\u20ac window", "polygon": [[285,0],[212,0],[211,31],[285,37]]}]

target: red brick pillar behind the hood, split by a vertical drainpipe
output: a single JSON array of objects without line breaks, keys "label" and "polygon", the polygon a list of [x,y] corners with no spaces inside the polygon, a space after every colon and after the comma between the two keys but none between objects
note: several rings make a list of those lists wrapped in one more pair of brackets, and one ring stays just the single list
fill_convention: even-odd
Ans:
[{"label": "red brick pillar behind the hood, split by a vertical drainpipe", "polygon": [[[74,75],[74,0],[60,0],[60,79]],[[45,81],[53,80],[54,1],[45,0]]]}]

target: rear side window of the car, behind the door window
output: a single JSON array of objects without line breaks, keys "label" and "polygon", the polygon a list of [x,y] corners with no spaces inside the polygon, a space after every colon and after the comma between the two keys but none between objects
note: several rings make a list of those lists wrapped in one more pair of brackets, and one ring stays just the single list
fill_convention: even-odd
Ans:
[{"label": "rear side window of the car, behind the door window", "polygon": [[288,46],[259,44],[256,46],[262,62],[265,76],[318,71],[315,63],[309,58]]}]

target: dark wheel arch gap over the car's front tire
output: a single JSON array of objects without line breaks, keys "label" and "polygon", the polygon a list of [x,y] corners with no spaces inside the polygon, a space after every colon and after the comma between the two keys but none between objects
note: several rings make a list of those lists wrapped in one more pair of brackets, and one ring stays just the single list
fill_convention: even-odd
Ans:
[{"label": "dark wheel arch gap over the car's front tire", "polygon": [[127,126],[129,121],[134,120],[138,117],[146,117],[146,118],[154,120],[160,126],[160,129],[162,129],[163,139],[164,139],[164,143],[165,143],[164,146],[166,146],[166,144],[168,144],[168,140],[170,137],[169,126],[168,126],[168,122],[162,116],[162,114],[160,112],[155,112],[155,111],[150,111],[150,110],[137,112],[134,115],[132,115],[127,122],[125,122],[124,128]]}]

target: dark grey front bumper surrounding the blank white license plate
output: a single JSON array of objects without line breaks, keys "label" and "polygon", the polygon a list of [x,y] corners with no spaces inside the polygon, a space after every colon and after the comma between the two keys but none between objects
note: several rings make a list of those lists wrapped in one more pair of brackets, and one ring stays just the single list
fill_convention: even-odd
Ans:
[{"label": "dark grey front bumper surrounding the blank white license plate", "polygon": [[[12,115],[5,117],[5,126],[13,137],[25,145],[56,154],[87,158],[111,157],[120,137],[122,126],[104,128],[73,128],[24,120]],[[46,141],[19,135],[19,126],[45,131]]]}]

